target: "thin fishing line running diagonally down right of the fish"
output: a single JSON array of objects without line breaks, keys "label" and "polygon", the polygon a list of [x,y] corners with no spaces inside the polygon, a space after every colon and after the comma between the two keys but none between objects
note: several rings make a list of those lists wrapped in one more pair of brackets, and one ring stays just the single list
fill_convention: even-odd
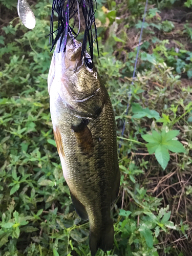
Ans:
[{"label": "thin fishing line running diagonally down right of the fish", "polygon": [[[143,27],[144,27],[143,25],[144,25],[145,17],[146,17],[147,5],[148,5],[148,0],[146,0],[146,3],[145,3],[145,10],[144,10],[143,21],[142,21],[142,25],[141,25],[141,33],[140,33],[140,37],[139,37],[139,45],[138,45],[138,48],[137,48],[137,55],[136,55],[135,66],[134,66],[133,77],[132,77],[132,83],[131,83],[132,86],[134,84],[134,79],[135,79],[135,73],[136,73],[136,68],[137,68],[137,61],[138,61],[141,38],[142,38],[142,33],[143,33]],[[129,96],[128,96],[128,103],[126,105],[125,115],[128,114],[129,106],[130,106],[130,100],[131,100],[131,93],[129,93]],[[124,131],[125,131],[125,121],[123,121],[123,123],[124,123],[124,125],[123,125],[123,130],[121,132],[121,137],[123,137],[123,134],[124,134]],[[120,141],[122,141],[122,139]],[[121,147],[121,144],[119,144],[119,148],[120,147]]]}]

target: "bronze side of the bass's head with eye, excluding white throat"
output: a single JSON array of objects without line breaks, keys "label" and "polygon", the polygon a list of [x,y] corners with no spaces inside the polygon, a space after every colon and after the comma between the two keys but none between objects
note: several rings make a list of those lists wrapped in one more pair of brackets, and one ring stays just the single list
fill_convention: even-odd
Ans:
[{"label": "bronze side of the bass's head with eye, excluding white throat", "polygon": [[[66,46],[65,67],[63,79],[74,104],[78,106],[91,102],[97,98],[102,87],[102,81],[95,68],[91,56],[86,51],[81,56],[81,42],[75,40],[75,45],[70,39]],[[71,102],[72,103],[72,102]]]}]

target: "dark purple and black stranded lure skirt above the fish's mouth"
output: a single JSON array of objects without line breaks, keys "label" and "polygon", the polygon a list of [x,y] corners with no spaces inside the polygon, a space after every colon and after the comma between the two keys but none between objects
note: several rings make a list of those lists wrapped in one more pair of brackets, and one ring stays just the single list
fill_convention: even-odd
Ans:
[{"label": "dark purple and black stranded lure skirt above the fish's mouth", "polygon": [[[96,41],[97,51],[99,55],[98,40],[97,40],[97,27],[95,24],[95,11],[97,9],[97,3],[94,3],[92,0],[53,0],[52,13],[51,13],[51,26],[50,26],[50,42],[52,42],[52,47],[56,45],[57,40],[60,38],[60,47],[63,43],[63,52],[66,51],[66,45],[68,37],[71,37],[73,44],[75,45],[75,38],[78,36],[80,29],[83,26],[84,36],[82,42],[81,50],[81,59],[87,50],[87,41],[89,42],[90,56],[93,59],[93,43]],[[53,19],[54,12],[58,14],[58,28],[56,31],[53,31]],[[82,17],[82,19],[81,19]],[[73,18],[73,25],[70,25],[70,19]],[[84,20],[83,20],[84,19]],[[78,20],[78,31],[75,32],[75,24]],[[92,25],[94,26],[95,35],[93,35]],[[57,32],[56,37],[54,38],[54,33]],[[59,47],[59,51],[60,51]]]}]

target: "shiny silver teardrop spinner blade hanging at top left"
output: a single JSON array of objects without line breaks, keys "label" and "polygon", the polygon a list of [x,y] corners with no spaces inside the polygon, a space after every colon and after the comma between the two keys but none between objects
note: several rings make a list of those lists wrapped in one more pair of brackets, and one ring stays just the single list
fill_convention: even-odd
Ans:
[{"label": "shiny silver teardrop spinner blade hanging at top left", "polygon": [[35,27],[35,15],[33,14],[33,11],[26,0],[18,0],[17,12],[19,18],[22,20],[22,23],[26,28],[33,29]]}]

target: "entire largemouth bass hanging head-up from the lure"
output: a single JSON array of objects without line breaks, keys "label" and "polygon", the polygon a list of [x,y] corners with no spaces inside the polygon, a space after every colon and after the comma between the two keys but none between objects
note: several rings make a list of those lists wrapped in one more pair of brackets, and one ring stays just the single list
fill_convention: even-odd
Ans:
[{"label": "entire largemouth bass hanging head-up from the lure", "polygon": [[112,103],[81,43],[58,40],[48,76],[54,138],[73,205],[90,222],[90,250],[111,250],[111,203],[119,190],[116,125]]}]

